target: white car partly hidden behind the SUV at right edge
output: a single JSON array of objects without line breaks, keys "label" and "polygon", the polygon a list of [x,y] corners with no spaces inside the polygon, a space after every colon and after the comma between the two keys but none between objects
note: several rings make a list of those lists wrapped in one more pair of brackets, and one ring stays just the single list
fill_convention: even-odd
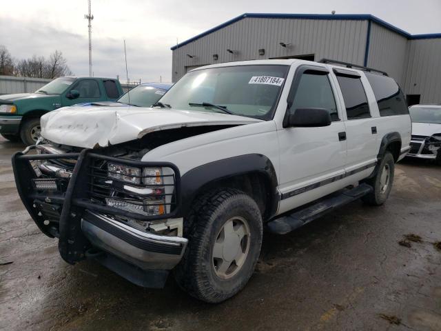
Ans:
[{"label": "white car partly hidden behind the SUV at right edge", "polygon": [[408,157],[436,160],[441,163],[441,106],[409,107],[412,119],[411,150]]}]

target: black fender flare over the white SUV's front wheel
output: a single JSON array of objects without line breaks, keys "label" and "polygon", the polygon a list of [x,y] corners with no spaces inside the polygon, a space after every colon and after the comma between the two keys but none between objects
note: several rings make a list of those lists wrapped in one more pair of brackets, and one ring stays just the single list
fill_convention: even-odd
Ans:
[{"label": "black fender flare over the white SUV's front wheel", "polygon": [[184,216],[189,212],[196,196],[209,183],[250,173],[263,174],[265,179],[267,179],[267,184],[271,190],[271,192],[267,193],[267,198],[269,199],[267,201],[269,203],[267,219],[273,217],[277,212],[278,201],[280,200],[278,181],[273,163],[263,154],[245,154],[220,159],[199,165],[185,172],[181,177],[182,207],[179,214]]}]

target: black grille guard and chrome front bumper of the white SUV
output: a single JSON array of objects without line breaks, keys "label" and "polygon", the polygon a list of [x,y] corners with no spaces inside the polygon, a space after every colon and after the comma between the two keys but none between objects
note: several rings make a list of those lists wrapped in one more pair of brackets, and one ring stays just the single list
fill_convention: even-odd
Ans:
[{"label": "black grille guard and chrome front bumper of the white SUV", "polygon": [[[50,159],[76,159],[65,192],[39,191],[32,185],[38,174],[31,161]],[[93,161],[96,159],[140,167],[172,168],[176,199],[174,210],[168,214],[144,216],[95,203],[90,196],[94,172],[89,170],[94,168]],[[12,168],[25,208],[43,233],[59,238],[59,252],[68,263],[92,257],[133,283],[161,287],[167,279],[168,270],[181,261],[187,239],[137,230],[116,221],[116,217],[155,223],[176,219],[180,207],[180,174],[176,165],[121,160],[83,150],[70,154],[24,155],[19,152],[12,157]],[[90,254],[91,250],[96,254]]]}]

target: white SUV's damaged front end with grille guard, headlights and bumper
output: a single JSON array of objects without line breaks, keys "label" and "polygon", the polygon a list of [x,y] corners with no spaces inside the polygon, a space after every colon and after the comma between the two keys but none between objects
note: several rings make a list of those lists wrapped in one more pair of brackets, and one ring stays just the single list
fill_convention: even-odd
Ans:
[{"label": "white SUV's damaged front end with grille guard, headlights and bumper", "polygon": [[187,245],[176,165],[139,161],[127,148],[37,151],[14,154],[14,177],[39,229],[59,238],[61,257],[96,259],[133,283],[162,287]]}]

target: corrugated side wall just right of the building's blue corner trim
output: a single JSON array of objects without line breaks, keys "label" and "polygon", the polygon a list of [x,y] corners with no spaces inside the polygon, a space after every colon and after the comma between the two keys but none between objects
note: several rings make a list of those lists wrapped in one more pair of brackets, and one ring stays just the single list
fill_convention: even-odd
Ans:
[{"label": "corrugated side wall just right of the building's blue corner trim", "polygon": [[408,43],[406,37],[372,22],[367,66],[387,72],[402,86]]}]

